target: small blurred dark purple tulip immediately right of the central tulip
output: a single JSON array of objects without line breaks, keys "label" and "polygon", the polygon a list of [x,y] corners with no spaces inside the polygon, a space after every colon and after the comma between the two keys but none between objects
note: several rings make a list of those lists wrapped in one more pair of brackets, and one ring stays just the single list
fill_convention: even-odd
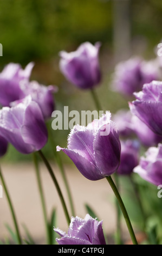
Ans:
[{"label": "small blurred dark purple tulip immediately right of the central tulip", "polygon": [[116,171],[120,175],[129,175],[139,163],[140,144],[138,141],[121,141],[120,165]]}]

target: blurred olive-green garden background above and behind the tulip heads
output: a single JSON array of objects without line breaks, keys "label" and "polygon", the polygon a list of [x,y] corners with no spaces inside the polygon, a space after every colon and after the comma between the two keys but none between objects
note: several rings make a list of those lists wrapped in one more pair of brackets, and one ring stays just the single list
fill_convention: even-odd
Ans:
[{"label": "blurred olive-green garden background above and behind the tulip heads", "polygon": [[[90,93],[75,88],[61,74],[59,52],[75,51],[85,41],[100,41],[102,82],[96,93],[103,110],[114,113],[128,107],[128,99],[109,87],[114,65],[134,54],[155,57],[154,48],[162,38],[161,13],[159,0],[0,0],[0,69],[10,62],[24,68],[34,61],[31,80],[57,85],[57,109],[94,110]],[[56,145],[66,146],[68,133],[54,131]],[[44,148],[51,158],[53,149],[49,143]],[[10,146],[3,161],[18,160],[30,160],[30,156],[22,156]]]}]

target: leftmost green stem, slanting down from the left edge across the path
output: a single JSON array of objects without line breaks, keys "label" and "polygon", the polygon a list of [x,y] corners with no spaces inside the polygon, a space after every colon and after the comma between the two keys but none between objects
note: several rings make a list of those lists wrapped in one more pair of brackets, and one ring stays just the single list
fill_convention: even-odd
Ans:
[{"label": "leftmost green stem, slanting down from the left edge across the path", "polygon": [[17,235],[17,241],[18,241],[19,245],[22,245],[22,240],[21,240],[21,236],[20,236],[20,231],[18,229],[18,224],[17,224],[17,220],[16,220],[16,215],[15,215],[14,207],[13,207],[12,202],[11,202],[11,198],[10,198],[10,195],[9,195],[9,192],[8,192],[7,185],[5,184],[5,180],[3,178],[1,167],[0,167],[0,177],[1,177],[1,180],[2,180],[2,185],[4,187],[5,194],[6,194],[7,199],[8,199],[8,203],[9,203],[12,219],[14,221],[14,225],[15,225],[15,229],[16,229],[16,235]]}]

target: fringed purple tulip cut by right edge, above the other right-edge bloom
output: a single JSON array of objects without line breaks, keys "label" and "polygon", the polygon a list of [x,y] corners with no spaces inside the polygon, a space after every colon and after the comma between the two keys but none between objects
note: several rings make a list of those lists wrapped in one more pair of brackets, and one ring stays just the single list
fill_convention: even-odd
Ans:
[{"label": "fringed purple tulip cut by right edge, above the other right-edge bloom", "polygon": [[137,100],[129,103],[132,114],[144,122],[154,133],[162,136],[162,82],[144,84],[142,92],[134,93]]}]

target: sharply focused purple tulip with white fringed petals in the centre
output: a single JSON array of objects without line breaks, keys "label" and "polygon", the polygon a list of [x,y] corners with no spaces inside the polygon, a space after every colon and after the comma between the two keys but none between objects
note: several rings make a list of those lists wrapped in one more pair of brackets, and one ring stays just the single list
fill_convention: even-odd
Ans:
[{"label": "sharply focused purple tulip with white fringed petals in the centre", "polygon": [[75,125],[68,137],[68,147],[60,148],[89,180],[100,180],[118,169],[120,141],[118,130],[107,112],[87,127]]}]

